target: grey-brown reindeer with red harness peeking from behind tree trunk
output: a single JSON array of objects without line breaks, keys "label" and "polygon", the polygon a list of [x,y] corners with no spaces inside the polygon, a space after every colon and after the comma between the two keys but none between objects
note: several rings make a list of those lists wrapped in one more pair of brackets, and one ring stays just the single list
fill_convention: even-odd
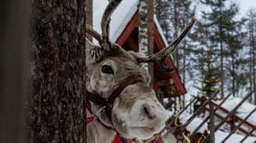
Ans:
[{"label": "grey-brown reindeer with red harness peeking from behind tree trunk", "polygon": [[[191,29],[190,23],[173,44],[153,55],[125,51],[109,41],[109,22],[121,0],[110,0],[101,22],[102,34],[86,26],[100,46],[86,38],[86,142],[110,143],[115,133],[126,138],[150,138],[169,118],[150,87],[142,62],[163,63]],[[162,66],[168,69],[165,66]]]}]

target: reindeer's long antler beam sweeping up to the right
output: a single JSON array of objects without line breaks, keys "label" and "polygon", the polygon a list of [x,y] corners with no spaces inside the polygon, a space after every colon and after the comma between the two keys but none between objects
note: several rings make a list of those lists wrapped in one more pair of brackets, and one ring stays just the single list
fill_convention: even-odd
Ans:
[{"label": "reindeer's long antler beam sweeping up to the right", "polygon": [[190,29],[192,28],[192,26],[194,25],[195,22],[196,22],[196,19],[193,18],[191,20],[191,22],[186,26],[186,28],[181,32],[181,34],[179,34],[179,36],[171,44],[171,46],[169,46],[168,48],[165,48],[161,51],[158,51],[157,53],[154,53],[150,56],[139,58],[139,59],[137,59],[138,62],[149,62],[150,63],[150,62],[162,61],[163,59],[165,59],[166,56],[168,56],[169,54],[171,54],[172,52],[175,51],[179,42],[185,37],[187,32],[190,31]]}]

